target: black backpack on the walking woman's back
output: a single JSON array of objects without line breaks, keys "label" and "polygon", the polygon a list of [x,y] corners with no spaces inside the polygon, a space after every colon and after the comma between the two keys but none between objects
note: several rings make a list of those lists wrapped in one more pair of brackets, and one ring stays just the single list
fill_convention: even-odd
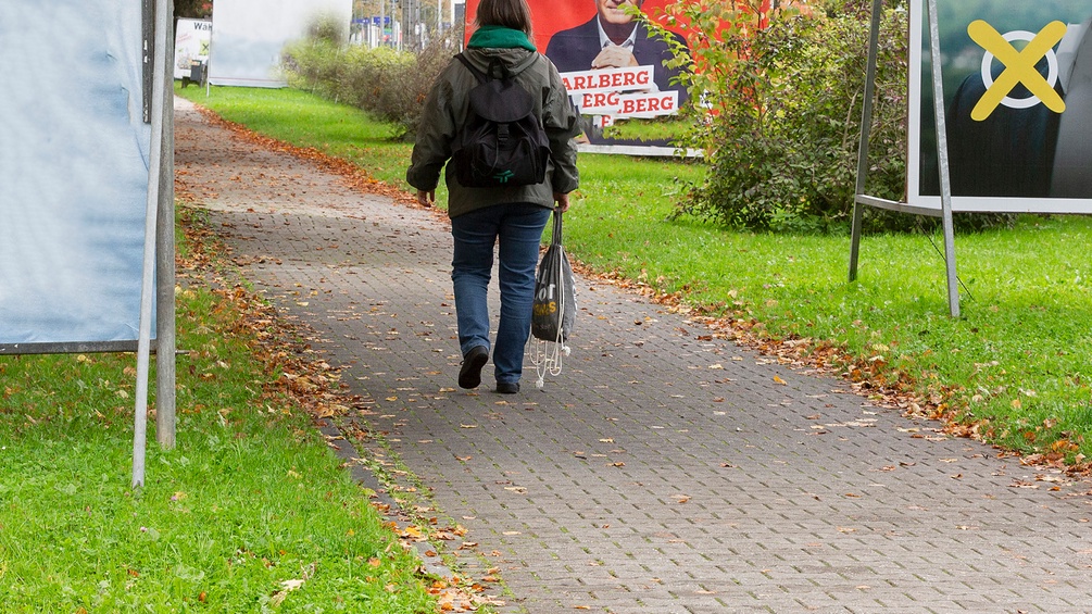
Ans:
[{"label": "black backpack on the walking woman's back", "polygon": [[[455,178],[471,188],[532,186],[546,180],[549,140],[535,117],[535,101],[499,61],[484,74],[462,54],[455,56],[478,80],[470,92],[470,113],[455,135],[451,161]],[[491,76],[494,70],[502,74]]]}]

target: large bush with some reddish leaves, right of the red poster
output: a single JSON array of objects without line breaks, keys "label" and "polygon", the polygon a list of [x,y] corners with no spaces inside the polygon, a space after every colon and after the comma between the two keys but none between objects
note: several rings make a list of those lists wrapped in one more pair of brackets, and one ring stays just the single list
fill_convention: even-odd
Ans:
[{"label": "large bush with some reddish leaves, right of the red poster", "polygon": [[[697,121],[679,144],[703,149],[710,165],[679,213],[763,231],[844,228],[870,17],[840,3],[811,15],[774,11],[767,23],[758,4],[700,0],[669,9],[698,26],[690,52],[699,70],[687,80],[703,105],[689,109]],[[867,190],[898,200],[905,180],[905,9],[886,9],[882,24]],[[873,225],[912,220],[868,213]]]}]

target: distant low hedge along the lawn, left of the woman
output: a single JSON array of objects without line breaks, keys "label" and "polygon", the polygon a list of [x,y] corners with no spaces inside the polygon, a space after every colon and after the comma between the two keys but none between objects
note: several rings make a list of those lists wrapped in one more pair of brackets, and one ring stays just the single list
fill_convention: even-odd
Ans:
[{"label": "distant low hedge along the lawn, left of the woman", "polygon": [[432,81],[458,49],[455,36],[440,37],[420,52],[340,45],[314,37],[288,46],[282,66],[288,85],[353,105],[412,135]]}]

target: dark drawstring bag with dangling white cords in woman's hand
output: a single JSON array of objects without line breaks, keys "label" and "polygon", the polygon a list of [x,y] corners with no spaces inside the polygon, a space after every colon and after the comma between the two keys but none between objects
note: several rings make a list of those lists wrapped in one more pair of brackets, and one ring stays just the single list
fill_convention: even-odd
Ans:
[{"label": "dark drawstring bag with dangling white cords in woman's hand", "polygon": [[567,341],[572,334],[575,312],[572,267],[561,245],[561,211],[555,209],[554,233],[535,274],[530,343],[531,363],[538,375],[536,388],[546,385],[547,375],[561,375],[563,357],[571,353]]}]

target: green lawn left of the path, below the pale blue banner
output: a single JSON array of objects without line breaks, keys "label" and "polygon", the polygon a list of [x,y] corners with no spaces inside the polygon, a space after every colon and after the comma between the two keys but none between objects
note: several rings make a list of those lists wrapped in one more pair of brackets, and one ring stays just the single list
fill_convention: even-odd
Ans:
[{"label": "green lawn left of the path, below the pale blue banner", "polygon": [[0,612],[436,612],[419,560],[274,386],[287,363],[259,359],[269,314],[180,281],[177,446],[150,434],[142,488],[135,356],[0,356]]}]

